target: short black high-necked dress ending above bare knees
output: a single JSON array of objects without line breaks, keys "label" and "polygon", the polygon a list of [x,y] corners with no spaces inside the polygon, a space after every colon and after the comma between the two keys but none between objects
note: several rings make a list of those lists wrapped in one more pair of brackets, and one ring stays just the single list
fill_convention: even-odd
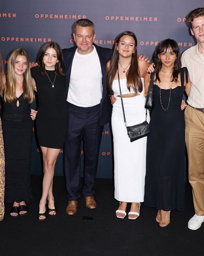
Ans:
[{"label": "short black high-necked dress ending above bare knees", "polygon": [[47,75],[40,73],[39,67],[31,68],[38,93],[38,114],[36,129],[39,145],[47,148],[61,149],[67,130],[67,108],[65,97],[65,76],[57,75],[55,71],[46,70]]}]

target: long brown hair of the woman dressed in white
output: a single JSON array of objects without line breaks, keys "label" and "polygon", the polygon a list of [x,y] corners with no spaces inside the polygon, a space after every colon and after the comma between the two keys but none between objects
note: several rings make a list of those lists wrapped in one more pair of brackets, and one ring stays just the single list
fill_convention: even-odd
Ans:
[{"label": "long brown hair of the woman dressed in white", "polygon": [[141,92],[142,82],[141,82],[140,73],[138,70],[137,38],[133,32],[124,31],[120,35],[118,35],[116,38],[115,49],[113,52],[113,57],[111,59],[110,69],[107,74],[107,86],[108,86],[109,93],[113,94],[112,83],[118,69],[118,61],[119,61],[119,53],[116,48],[122,36],[132,36],[135,42],[135,52],[134,54],[132,54],[130,68],[126,75],[128,90],[130,91],[130,88],[132,87],[135,93]]}]

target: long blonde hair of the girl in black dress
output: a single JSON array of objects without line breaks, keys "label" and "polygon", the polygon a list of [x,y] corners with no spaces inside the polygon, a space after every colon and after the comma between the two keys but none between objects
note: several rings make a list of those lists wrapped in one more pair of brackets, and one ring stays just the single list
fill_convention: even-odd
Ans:
[{"label": "long blonde hair of the girl in black dress", "polygon": [[23,98],[29,103],[35,99],[35,93],[32,87],[32,77],[29,67],[28,53],[24,49],[15,49],[8,58],[8,68],[6,74],[6,85],[4,89],[4,100],[5,102],[15,102],[15,89],[16,89],[16,78],[15,78],[15,60],[18,56],[25,56],[28,66],[27,70],[23,73]]}]

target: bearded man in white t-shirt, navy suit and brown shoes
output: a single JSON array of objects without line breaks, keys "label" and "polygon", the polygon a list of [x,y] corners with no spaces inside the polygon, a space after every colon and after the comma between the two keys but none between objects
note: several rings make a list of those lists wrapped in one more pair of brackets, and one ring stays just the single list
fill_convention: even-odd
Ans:
[{"label": "bearded man in white t-shirt, navy suit and brown shoes", "polygon": [[112,106],[106,87],[106,62],[113,51],[94,44],[95,25],[88,19],[74,23],[76,46],[64,49],[69,124],[65,140],[65,176],[69,203],[66,213],[77,212],[80,188],[81,143],[84,141],[86,206],[96,207],[94,185],[104,124],[111,121]]}]

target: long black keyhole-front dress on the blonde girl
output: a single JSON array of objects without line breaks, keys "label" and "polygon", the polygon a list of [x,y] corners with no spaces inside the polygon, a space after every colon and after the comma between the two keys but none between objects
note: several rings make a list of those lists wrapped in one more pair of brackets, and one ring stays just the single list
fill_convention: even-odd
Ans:
[{"label": "long black keyhole-front dress on the blonde girl", "polygon": [[[19,107],[16,101],[19,100]],[[29,202],[32,198],[30,170],[32,119],[30,103],[23,94],[15,102],[3,97],[2,130],[5,150],[5,200],[8,203]]]}]

